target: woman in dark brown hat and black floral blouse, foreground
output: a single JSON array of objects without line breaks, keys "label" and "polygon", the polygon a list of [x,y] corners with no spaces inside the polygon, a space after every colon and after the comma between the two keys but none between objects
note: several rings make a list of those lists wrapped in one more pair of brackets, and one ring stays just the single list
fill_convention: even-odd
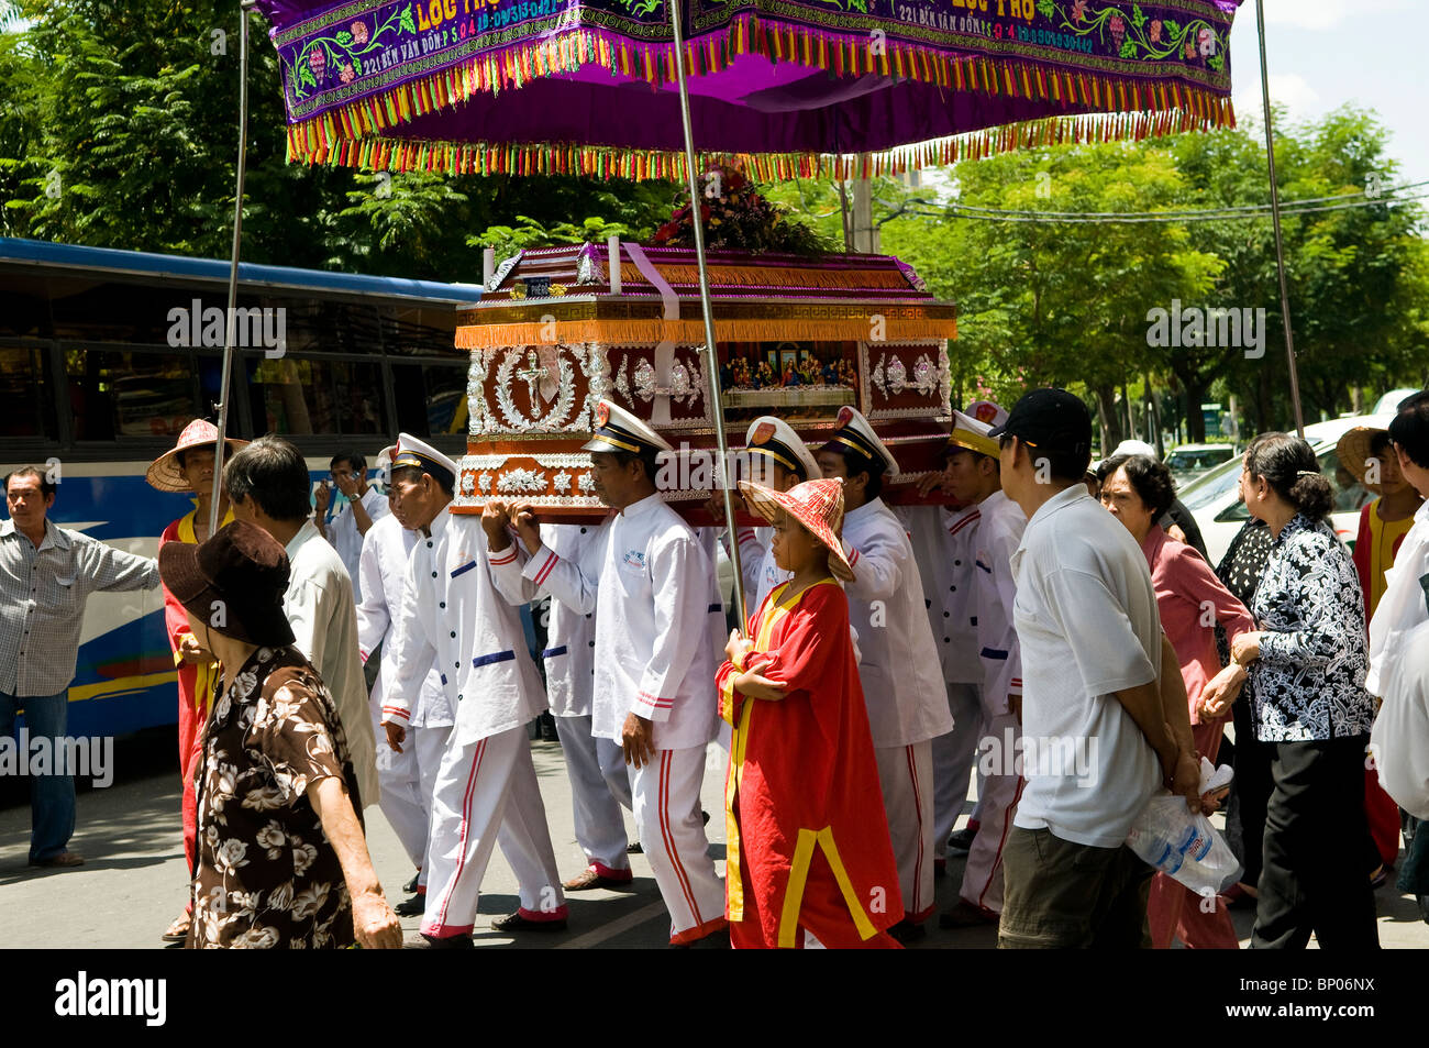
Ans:
[{"label": "woman in dark brown hat and black floral blouse, foreground", "polygon": [[400,948],[337,706],[283,615],[283,546],[240,520],[166,545],[159,573],[221,663],[199,765],[189,945]]}]

